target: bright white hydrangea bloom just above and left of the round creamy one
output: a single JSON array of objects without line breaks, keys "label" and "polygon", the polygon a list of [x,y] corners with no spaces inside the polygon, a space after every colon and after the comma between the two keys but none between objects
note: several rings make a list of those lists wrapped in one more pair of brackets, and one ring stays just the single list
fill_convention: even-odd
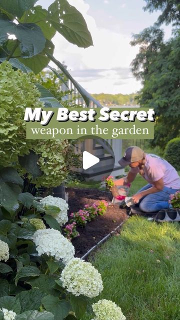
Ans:
[{"label": "bright white hydrangea bloom just above and left of the round creamy one", "polygon": [[40,229],[33,234],[38,255],[46,253],[67,263],[74,256],[74,247],[58,230]]}]

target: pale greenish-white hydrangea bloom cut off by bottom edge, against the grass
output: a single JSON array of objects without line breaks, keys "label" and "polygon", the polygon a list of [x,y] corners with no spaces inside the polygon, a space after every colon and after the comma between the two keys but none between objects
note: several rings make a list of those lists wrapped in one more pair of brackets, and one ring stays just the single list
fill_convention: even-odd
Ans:
[{"label": "pale greenish-white hydrangea bloom cut off by bottom edge, against the grass", "polygon": [[92,304],[95,318],[92,320],[125,320],[121,308],[114,302],[106,299],[99,300]]}]

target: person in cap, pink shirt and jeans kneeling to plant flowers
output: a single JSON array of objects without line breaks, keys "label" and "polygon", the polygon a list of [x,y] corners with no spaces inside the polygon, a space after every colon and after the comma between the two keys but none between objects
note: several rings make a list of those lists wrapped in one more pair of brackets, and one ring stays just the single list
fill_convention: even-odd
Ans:
[{"label": "person in cap, pink shirt and jeans kneeling to plant flowers", "polygon": [[155,212],[169,209],[170,194],[180,189],[180,177],[175,168],[163,158],[145,153],[138,146],[130,146],[118,161],[121,166],[130,166],[126,177],[114,181],[115,185],[126,185],[132,182],[139,173],[147,182],[133,196],[133,203],[138,203],[141,211]]}]

